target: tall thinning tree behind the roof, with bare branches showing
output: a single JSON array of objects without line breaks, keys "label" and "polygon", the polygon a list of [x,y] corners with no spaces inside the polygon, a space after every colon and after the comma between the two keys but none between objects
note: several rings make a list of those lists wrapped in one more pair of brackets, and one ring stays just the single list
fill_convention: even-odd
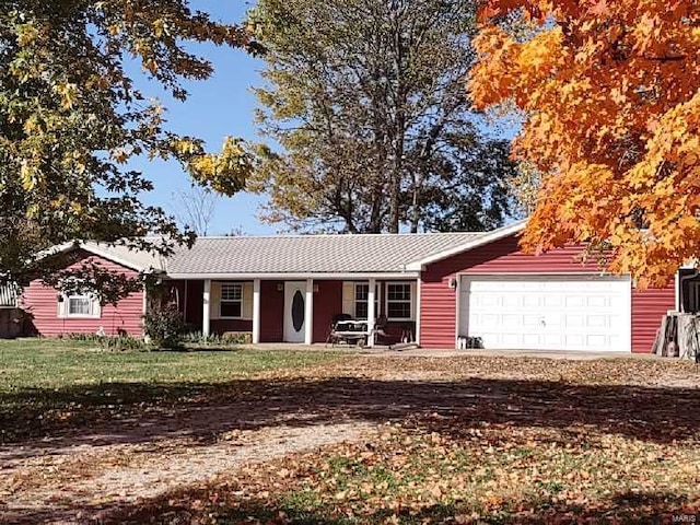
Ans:
[{"label": "tall thinning tree behind the roof, with bare branches showing", "polygon": [[514,171],[464,92],[475,2],[260,0],[266,218],[353,233],[502,223]]}]

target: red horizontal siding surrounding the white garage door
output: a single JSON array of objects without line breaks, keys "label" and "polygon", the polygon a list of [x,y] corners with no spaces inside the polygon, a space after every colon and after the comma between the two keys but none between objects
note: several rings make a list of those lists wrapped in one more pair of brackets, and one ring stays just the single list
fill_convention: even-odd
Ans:
[{"label": "red horizontal siding surrounding the white garage door", "polygon": [[[515,235],[430,265],[421,279],[421,334],[424,348],[454,348],[456,290],[448,287],[456,273],[563,273],[599,271],[595,260],[582,261],[581,246],[534,256],[523,253]],[[670,282],[662,290],[632,291],[632,351],[649,352],[661,316],[674,307]]]}]

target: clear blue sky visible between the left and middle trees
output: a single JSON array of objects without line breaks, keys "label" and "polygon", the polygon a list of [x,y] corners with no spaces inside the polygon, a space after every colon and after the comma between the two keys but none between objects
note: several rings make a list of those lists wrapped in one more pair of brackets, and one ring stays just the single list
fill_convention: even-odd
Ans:
[{"label": "clear blue sky visible between the left and middle trees", "polygon": [[[210,13],[214,19],[237,23],[253,3],[241,0],[191,0],[190,5]],[[168,129],[200,137],[207,141],[210,150],[219,150],[226,136],[260,140],[254,125],[256,101],[249,88],[261,84],[259,71],[262,62],[238,49],[213,45],[198,45],[191,49],[206,56],[214,65],[215,72],[207,81],[187,83],[189,98],[185,103],[164,96],[153,83],[139,81],[144,93],[158,96],[167,107]],[[155,189],[145,195],[143,201],[173,212],[176,206],[173,194],[190,186],[188,175],[173,162],[143,161],[136,163],[135,167],[155,185]],[[256,218],[261,202],[262,197],[243,192],[233,198],[222,197],[209,234],[224,234],[234,229],[252,234],[273,233],[278,228],[260,223]]]}]

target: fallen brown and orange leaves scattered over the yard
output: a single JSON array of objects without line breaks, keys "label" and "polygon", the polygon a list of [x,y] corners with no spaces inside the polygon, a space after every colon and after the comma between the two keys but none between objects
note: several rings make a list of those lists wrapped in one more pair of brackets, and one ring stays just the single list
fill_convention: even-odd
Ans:
[{"label": "fallen brown and orange leaves scattered over the yard", "polygon": [[151,407],[149,468],[173,457],[159,450],[171,431],[203,453],[261,442],[280,425],[368,430],[250,457],[156,497],[61,501],[33,516],[60,508],[101,523],[670,523],[700,511],[699,386],[691,363],[658,359],[354,355],[266,371]]}]

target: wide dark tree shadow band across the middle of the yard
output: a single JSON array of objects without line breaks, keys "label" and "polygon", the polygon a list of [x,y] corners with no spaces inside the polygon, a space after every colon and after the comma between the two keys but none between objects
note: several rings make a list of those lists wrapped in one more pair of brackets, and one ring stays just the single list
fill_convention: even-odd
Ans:
[{"label": "wide dark tree shadow band across the middle of the yard", "polygon": [[0,394],[0,430],[7,444],[32,435],[54,438],[46,446],[183,435],[206,444],[236,429],[410,419],[447,435],[459,435],[480,422],[542,428],[580,423],[664,443],[696,436],[697,408],[695,389],[542,381],[292,377],[203,385],[110,383]]}]

